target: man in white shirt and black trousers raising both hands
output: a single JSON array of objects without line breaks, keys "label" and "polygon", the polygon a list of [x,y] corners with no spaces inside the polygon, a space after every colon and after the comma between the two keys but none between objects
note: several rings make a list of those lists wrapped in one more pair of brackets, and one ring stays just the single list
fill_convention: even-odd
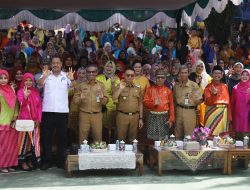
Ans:
[{"label": "man in white shirt and black trousers raising both hands", "polygon": [[72,69],[68,73],[62,72],[62,62],[58,56],[52,58],[52,70],[44,66],[43,74],[37,81],[38,87],[44,88],[43,113],[41,127],[42,167],[48,169],[53,161],[52,137],[57,134],[57,160],[56,165],[64,168],[65,149],[67,143],[68,123],[68,88],[74,80]]}]

